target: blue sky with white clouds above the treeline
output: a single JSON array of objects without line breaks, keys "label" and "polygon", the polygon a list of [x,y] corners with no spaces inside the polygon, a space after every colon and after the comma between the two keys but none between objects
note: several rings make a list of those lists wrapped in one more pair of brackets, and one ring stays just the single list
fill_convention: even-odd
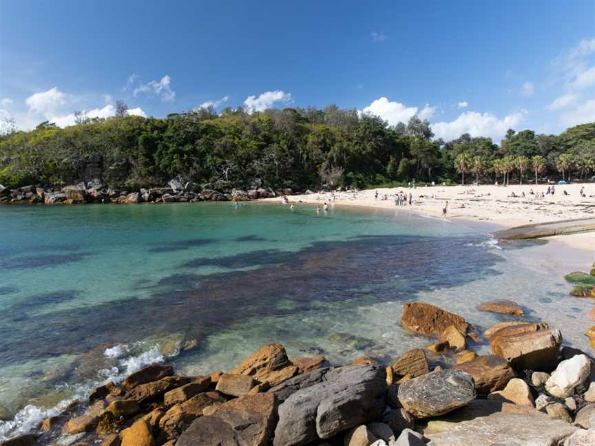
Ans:
[{"label": "blue sky with white clouds above the treeline", "polygon": [[594,1],[0,1],[0,117],[213,103],[413,114],[499,142],[595,120]]}]

